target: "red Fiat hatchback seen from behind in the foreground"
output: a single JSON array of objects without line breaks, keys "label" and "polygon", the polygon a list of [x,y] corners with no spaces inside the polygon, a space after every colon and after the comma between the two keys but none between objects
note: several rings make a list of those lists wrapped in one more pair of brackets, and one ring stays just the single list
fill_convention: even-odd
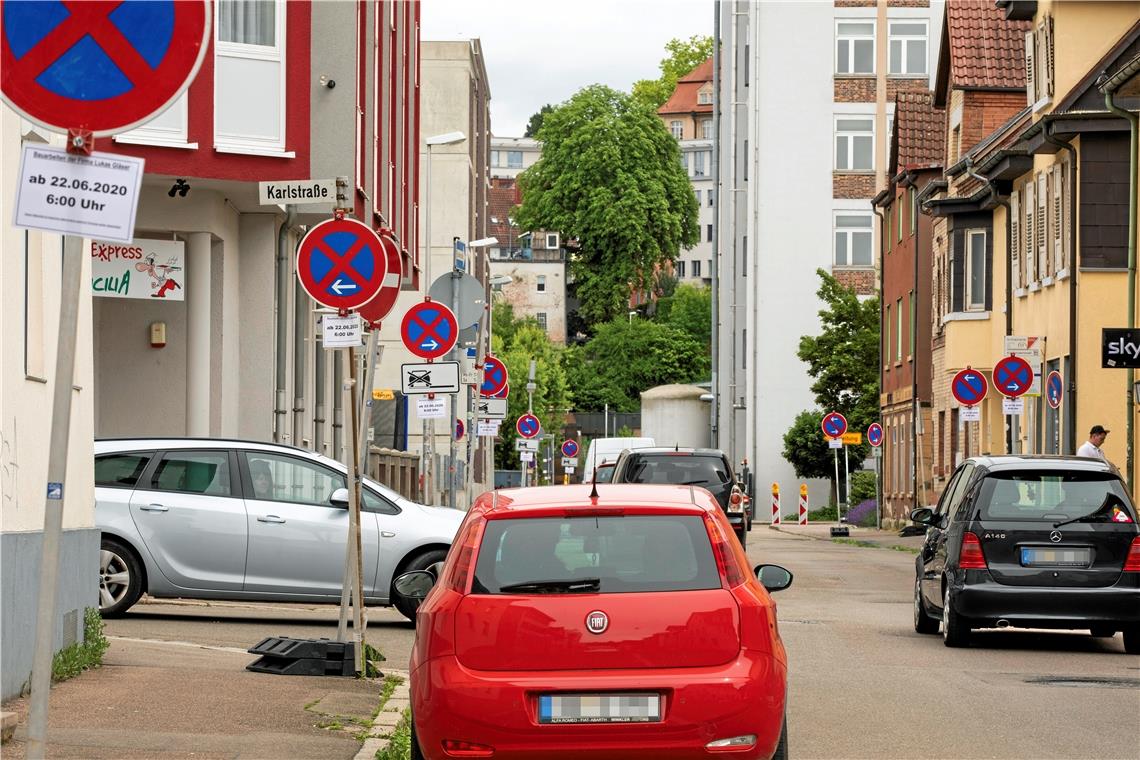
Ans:
[{"label": "red Fiat hatchback seen from behind in the foreground", "polygon": [[[678,485],[481,496],[412,652],[413,758],[785,758],[788,660],[716,500]],[[763,580],[763,585],[762,585]],[[433,586],[434,583],[434,586]]]}]

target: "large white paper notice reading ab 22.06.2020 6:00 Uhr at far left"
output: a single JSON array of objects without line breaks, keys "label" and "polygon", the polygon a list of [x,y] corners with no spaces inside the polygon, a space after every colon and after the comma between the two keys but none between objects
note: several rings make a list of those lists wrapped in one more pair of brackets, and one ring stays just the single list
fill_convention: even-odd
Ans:
[{"label": "large white paper notice reading ab 22.06.2020 6:00 Uhr at far left", "polygon": [[130,243],[142,182],[141,158],[25,145],[13,224]]}]

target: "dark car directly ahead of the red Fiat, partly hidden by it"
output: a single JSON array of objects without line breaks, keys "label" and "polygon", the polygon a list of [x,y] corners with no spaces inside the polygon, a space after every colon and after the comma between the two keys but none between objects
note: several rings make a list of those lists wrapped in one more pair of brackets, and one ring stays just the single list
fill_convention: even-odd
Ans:
[{"label": "dark car directly ahead of the red Fiat, partly hidden by it", "polygon": [[614,483],[674,483],[709,491],[747,546],[752,516],[744,492],[732,474],[732,463],[719,449],[633,449],[622,451],[613,467]]}]

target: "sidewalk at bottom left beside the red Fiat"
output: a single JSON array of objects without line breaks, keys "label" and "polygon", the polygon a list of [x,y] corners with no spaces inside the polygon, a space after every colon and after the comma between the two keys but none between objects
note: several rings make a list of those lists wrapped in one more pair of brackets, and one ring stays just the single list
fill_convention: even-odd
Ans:
[{"label": "sidewalk at bottom left beside the red Fiat", "polygon": [[[276,676],[245,670],[241,649],[112,638],[104,665],[51,689],[49,758],[269,760],[374,757],[407,706],[405,683],[381,710],[383,678]],[[27,700],[0,754],[26,753]],[[366,742],[367,739],[367,742]],[[364,744],[364,746],[361,746]]]}]

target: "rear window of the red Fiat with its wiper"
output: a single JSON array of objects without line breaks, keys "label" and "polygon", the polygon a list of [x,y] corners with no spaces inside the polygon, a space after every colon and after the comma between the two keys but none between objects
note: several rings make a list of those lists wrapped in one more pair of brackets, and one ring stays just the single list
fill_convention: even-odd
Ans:
[{"label": "rear window of the red Fiat with its wiper", "polygon": [[597,579],[596,591],[602,594],[720,588],[708,532],[698,515],[488,521],[473,594],[579,579]]}]

